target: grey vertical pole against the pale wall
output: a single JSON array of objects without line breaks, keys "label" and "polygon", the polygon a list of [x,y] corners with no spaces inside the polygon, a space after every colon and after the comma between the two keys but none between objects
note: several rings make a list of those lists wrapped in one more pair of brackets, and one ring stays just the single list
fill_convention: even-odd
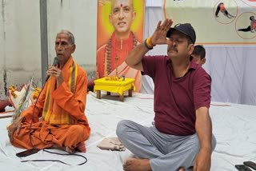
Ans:
[{"label": "grey vertical pole against the pale wall", "polygon": [[40,0],[41,66],[42,85],[45,83],[48,69],[47,0]]}]

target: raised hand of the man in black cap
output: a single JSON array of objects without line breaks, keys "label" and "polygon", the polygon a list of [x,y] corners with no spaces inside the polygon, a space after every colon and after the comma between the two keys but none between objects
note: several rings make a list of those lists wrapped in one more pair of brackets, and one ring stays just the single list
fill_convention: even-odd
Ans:
[{"label": "raised hand of the man in black cap", "polygon": [[166,18],[164,22],[158,22],[158,26],[156,30],[154,30],[154,34],[151,36],[151,42],[153,45],[168,44],[169,40],[166,39],[166,34],[172,24],[173,20],[168,18]]}]

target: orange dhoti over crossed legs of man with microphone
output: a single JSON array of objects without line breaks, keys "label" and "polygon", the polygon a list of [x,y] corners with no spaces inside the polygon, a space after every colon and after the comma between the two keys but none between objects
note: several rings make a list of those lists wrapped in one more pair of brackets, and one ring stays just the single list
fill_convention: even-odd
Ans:
[{"label": "orange dhoti over crossed legs of man with microphone", "polygon": [[[90,136],[90,130],[84,125],[50,125],[43,121],[32,124],[31,128],[29,123],[24,123],[20,133],[15,133],[12,145],[24,149],[32,149],[33,146],[46,149],[54,145],[75,149]],[[78,150],[85,152],[85,148]]]}]

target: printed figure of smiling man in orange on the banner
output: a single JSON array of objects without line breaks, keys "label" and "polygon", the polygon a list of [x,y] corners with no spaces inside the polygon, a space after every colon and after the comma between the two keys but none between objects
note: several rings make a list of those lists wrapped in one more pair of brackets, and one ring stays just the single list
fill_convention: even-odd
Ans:
[{"label": "printed figure of smiling man in orange on the banner", "polygon": [[[130,26],[134,21],[136,13],[134,12],[133,0],[112,0],[110,22],[114,27],[114,33],[111,35],[106,45],[100,47],[97,51],[97,76],[122,75],[126,78],[135,78],[136,91],[141,91],[141,72],[126,65],[127,54],[138,41]],[[118,73],[116,73],[118,68]]]}]

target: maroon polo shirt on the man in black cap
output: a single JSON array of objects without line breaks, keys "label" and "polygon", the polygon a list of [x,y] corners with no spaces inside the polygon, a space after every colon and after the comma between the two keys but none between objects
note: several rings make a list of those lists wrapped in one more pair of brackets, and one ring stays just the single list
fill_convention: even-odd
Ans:
[{"label": "maroon polo shirt on the man in black cap", "polygon": [[154,81],[154,121],[162,133],[195,133],[195,110],[210,107],[210,76],[194,61],[182,78],[174,78],[167,56],[142,58],[144,72]]}]

